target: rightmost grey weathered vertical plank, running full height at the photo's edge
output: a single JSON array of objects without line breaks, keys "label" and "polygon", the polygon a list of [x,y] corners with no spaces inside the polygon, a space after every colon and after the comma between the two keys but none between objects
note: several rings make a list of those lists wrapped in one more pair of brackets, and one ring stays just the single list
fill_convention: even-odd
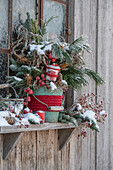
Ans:
[{"label": "rightmost grey weathered vertical plank, running full height at the photo's edge", "polygon": [[[104,109],[108,117],[101,132],[97,134],[96,169],[113,169],[113,1],[98,1],[98,51],[97,70],[105,80],[102,87],[98,87],[97,94],[104,100]],[[103,18],[103,19],[102,19]],[[112,21],[112,22],[111,22]]]}]

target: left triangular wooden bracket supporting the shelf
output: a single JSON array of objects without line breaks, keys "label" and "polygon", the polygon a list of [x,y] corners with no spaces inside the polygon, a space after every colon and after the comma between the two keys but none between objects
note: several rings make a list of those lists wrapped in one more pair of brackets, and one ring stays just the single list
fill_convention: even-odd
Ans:
[{"label": "left triangular wooden bracket supporting the shelf", "polygon": [[11,151],[17,145],[23,133],[5,134],[3,139],[3,159],[8,159]]}]

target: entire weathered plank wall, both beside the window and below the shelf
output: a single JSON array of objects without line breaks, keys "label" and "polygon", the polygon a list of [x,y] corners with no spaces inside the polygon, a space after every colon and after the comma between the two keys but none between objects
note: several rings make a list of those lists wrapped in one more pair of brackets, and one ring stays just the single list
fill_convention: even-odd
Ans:
[{"label": "entire weathered plank wall, both beside the window and below the shelf", "polygon": [[1,170],[113,170],[113,1],[74,1],[74,36],[88,36],[94,54],[86,56],[87,65],[106,81],[98,89],[91,83],[82,92],[101,94],[108,112],[106,123],[100,133],[88,131],[83,140],[77,139],[76,130],[63,151],[58,151],[57,130],[26,132],[6,161],[1,136]]}]

